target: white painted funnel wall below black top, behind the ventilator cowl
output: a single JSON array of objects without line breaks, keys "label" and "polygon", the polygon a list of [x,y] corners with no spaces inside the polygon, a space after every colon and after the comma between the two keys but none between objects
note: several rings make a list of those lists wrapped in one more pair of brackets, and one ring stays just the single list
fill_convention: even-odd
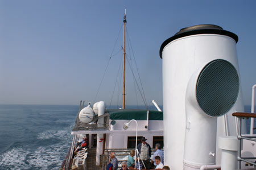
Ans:
[{"label": "white painted funnel wall below black top, behind the ventilator cowl", "polygon": [[[224,35],[201,34],[179,38],[164,47],[163,59],[163,113],[164,113],[164,164],[172,169],[183,169],[185,142],[185,94],[192,74],[212,60],[224,59],[234,65],[239,73],[236,42]],[[230,135],[236,134],[234,111],[243,111],[242,94],[228,112]],[[244,125],[245,123],[243,123]],[[217,120],[217,136],[224,134],[223,118]],[[211,134],[209,134],[211,135]],[[202,136],[195,136],[202,138]],[[208,136],[203,136],[203,139]],[[200,143],[198,143],[200,145]],[[194,147],[191,145],[191,147]],[[205,148],[202,148],[205,150]],[[207,151],[208,152],[208,151]],[[208,152],[209,153],[209,152]],[[217,157],[220,154],[217,153]],[[202,158],[204,159],[204,158]],[[216,162],[217,164],[220,164]]]}]

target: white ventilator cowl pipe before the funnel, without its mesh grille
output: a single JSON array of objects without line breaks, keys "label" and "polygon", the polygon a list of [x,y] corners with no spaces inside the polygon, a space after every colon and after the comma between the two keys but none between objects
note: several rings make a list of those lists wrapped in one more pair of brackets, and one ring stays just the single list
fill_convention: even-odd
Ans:
[{"label": "white ventilator cowl pipe before the funnel, without its mesh grille", "polygon": [[196,98],[197,78],[203,68],[204,65],[192,74],[187,85],[184,169],[215,164],[217,118],[205,114]]}]

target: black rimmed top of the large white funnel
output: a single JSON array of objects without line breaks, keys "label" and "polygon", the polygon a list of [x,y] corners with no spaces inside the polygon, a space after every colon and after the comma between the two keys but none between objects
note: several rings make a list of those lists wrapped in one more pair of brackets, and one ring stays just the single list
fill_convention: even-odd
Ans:
[{"label": "black rimmed top of the large white funnel", "polygon": [[236,42],[238,42],[238,36],[233,32],[223,30],[223,28],[221,28],[220,26],[216,26],[213,24],[200,24],[192,27],[181,28],[180,31],[177,32],[174,36],[165,40],[160,47],[160,51],[159,51],[160,58],[162,59],[163,48],[166,47],[166,45],[172,42],[173,40],[182,38],[184,36],[197,35],[197,34],[226,35],[226,36],[229,36],[230,38],[233,38]]}]

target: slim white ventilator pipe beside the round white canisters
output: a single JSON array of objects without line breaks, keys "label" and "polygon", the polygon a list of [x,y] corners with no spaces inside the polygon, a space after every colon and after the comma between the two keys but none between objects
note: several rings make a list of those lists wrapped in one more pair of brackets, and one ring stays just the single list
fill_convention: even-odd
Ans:
[{"label": "slim white ventilator pipe beside the round white canisters", "polygon": [[[95,106],[97,106],[97,108],[95,108],[98,111],[98,117],[100,117],[101,115],[104,115],[105,113],[105,102],[104,101],[100,101],[97,104],[94,104]],[[94,108],[93,108],[94,110]],[[104,127],[104,117],[98,119],[98,127]],[[104,136],[103,134],[97,134],[97,149],[96,149],[96,165],[100,165],[100,155],[103,154],[103,144],[104,144]]]}]

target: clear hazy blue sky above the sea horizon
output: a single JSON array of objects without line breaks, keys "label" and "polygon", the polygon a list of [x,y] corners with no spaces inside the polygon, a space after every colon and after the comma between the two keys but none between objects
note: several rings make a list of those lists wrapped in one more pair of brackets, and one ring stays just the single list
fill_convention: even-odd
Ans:
[{"label": "clear hazy blue sky above the sea horizon", "polygon": [[[243,98],[250,104],[251,86],[256,84],[255,6],[256,1],[1,0],[0,103],[93,102],[126,7],[127,28],[147,103],[155,99],[162,104],[159,48],[163,41],[180,28],[209,23],[238,35]],[[114,53],[121,45],[122,31]],[[110,60],[97,101],[109,105],[121,57],[119,52]],[[127,104],[136,104],[128,65],[126,81]],[[113,104],[117,92],[118,88]],[[137,97],[142,104],[138,90]]]}]

